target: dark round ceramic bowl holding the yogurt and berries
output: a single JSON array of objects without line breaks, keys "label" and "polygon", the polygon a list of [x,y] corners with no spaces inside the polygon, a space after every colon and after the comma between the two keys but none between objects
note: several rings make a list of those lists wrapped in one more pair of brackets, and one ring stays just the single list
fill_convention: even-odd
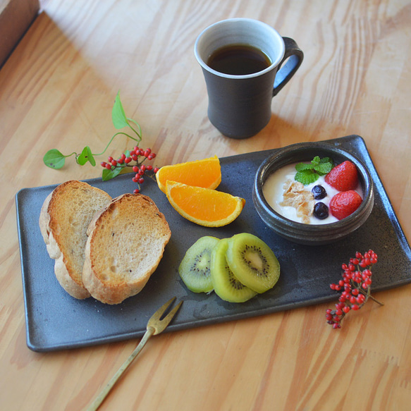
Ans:
[{"label": "dark round ceramic bowl holding the yogurt and berries", "polygon": [[[331,157],[335,164],[350,160],[357,166],[364,199],[360,207],[345,219],[326,224],[297,223],[274,211],[264,198],[262,187],[271,173],[291,163],[309,162],[315,156]],[[326,142],[304,142],[279,149],[263,161],[255,176],[252,199],[262,221],[278,235],[294,243],[324,245],[341,240],[368,219],[374,206],[374,183],[364,164],[346,150]]]}]

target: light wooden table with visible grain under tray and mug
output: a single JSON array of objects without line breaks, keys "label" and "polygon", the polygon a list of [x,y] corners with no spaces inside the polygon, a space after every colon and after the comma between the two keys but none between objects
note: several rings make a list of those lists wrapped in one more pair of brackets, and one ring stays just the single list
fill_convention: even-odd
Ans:
[{"label": "light wooden table with visible grain under tray and mug", "polygon": [[[52,171],[42,157],[51,148],[104,147],[118,90],[159,166],[361,135],[411,238],[410,1],[48,0],[43,7],[0,70],[3,410],[84,409],[135,347],[29,350],[16,228],[21,188],[100,175],[73,160]],[[208,121],[192,50],[204,27],[240,16],[293,37],[305,61],[273,100],[269,125],[230,140]],[[129,147],[119,138],[107,154]],[[329,305],[318,305],[164,333],[101,409],[407,410],[410,293],[411,286],[378,293],[384,307],[368,302],[338,331],[324,320]]]}]

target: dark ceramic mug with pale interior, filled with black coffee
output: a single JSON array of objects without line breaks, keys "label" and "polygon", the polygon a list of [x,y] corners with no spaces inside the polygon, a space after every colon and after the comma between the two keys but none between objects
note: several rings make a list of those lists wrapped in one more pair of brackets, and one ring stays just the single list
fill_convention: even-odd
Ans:
[{"label": "dark ceramic mug with pale interior, filled with black coffee", "polygon": [[[250,18],[210,25],[197,37],[194,51],[207,85],[209,120],[223,135],[238,139],[259,133],[269,123],[271,99],[293,77],[304,57],[293,39]],[[259,56],[253,55],[258,52]],[[244,63],[242,67],[242,56],[251,66]],[[259,63],[253,66],[251,57]],[[226,66],[218,66],[225,61]]]}]

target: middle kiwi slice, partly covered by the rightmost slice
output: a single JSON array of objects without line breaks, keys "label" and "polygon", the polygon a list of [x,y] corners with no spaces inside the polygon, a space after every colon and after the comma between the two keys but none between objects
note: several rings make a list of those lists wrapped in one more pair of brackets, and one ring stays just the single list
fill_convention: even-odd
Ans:
[{"label": "middle kiwi slice, partly covered by the rightmost slice", "polygon": [[214,291],[221,300],[228,302],[245,302],[257,295],[251,288],[244,286],[227,264],[226,251],[228,239],[223,238],[211,252],[211,281]]}]

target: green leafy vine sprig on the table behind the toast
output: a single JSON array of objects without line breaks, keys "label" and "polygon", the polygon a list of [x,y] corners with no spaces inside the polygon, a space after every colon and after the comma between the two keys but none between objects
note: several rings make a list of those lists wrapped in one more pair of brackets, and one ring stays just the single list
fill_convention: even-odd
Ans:
[{"label": "green leafy vine sprig on the table behind the toast", "polygon": [[46,154],[44,154],[44,164],[49,168],[59,169],[62,168],[66,163],[66,158],[74,155],[76,163],[80,164],[80,166],[84,166],[88,161],[94,167],[96,165],[94,157],[103,155],[109,148],[109,145],[111,145],[111,142],[113,142],[114,137],[116,137],[117,135],[125,135],[131,140],[137,142],[137,146],[140,144],[142,140],[141,127],[132,118],[125,116],[123,104],[121,104],[120,92],[117,93],[116,99],[114,101],[114,106],[111,111],[111,120],[113,121],[113,125],[117,130],[128,127],[133,131],[133,133],[135,133],[135,137],[128,133],[125,133],[124,131],[119,131],[118,133],[114,134],[113,137],[111,137],[111,140],[109,141],[109,144],[106,145],[106,148],[98,154],[93,154],[88,145],[85,146],[84,149],[82,149],[82,152],[80,154],[72,152],[71,154],[65,155],[62,154],[58,149],[51,149]]}]

